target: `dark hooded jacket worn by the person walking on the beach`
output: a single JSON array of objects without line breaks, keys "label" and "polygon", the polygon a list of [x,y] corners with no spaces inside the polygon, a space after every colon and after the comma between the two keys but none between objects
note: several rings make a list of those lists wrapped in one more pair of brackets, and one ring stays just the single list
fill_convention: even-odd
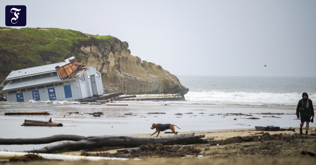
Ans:
[{"label": "dark hooded jacket worn by the person walking on the beach", "polygon": [[[303,95],[307,95],[307,93],[304,92]],[[307,106],[307,102],[308,102],[308,106]],[[303,98],[300,101],[298,101],[298,104],[296,107],[296,115],[297,117],[300,117],[301,115],[301,117],[304,117],[304,118],[310,118],[311,116],[314,116],[313,102],[311,99],[308,98],[308,95],[306,99]]]}]

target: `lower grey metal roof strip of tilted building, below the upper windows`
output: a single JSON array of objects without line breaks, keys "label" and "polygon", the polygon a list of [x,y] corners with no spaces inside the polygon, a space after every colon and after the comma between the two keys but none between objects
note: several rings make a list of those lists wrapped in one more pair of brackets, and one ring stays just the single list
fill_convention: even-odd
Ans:
[{"label": "lower grey metal roof strip of tilted building, below the upper windows", "polygon": [[[55,65],[56,66],[56,65]],[[21,89],[31,86],[38,86],[41,84],[47,84],[47,83],[57,83],[58,81],[61,81],[58,76],[50,76],[50,77],[44,77],[34,80],[28,80],[28,81],[22,81],[17,83],[8,83],[2,91],[8,91],[12,89]]]}]

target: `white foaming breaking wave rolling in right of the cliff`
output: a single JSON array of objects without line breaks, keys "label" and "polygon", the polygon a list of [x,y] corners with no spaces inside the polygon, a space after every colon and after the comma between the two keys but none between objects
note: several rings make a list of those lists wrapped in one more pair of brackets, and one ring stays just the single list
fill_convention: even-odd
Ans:
[{"label": "white foaming breaking wave rolling in right of the cliff", "polygon": [[[316,94],[308,93],[308,98],[316,102]],[[185,100],[193,104],[289,106],[297,105],[302,93],[253,93],[253,92],[188,92]]]}]

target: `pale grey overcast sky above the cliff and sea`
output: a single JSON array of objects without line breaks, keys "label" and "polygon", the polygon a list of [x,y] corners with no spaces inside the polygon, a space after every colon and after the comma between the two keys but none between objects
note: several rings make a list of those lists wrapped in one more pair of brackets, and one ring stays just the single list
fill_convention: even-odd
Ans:
[{"label": "pale grey overcast sky above the cliff and sea", "polygon": [[174,75],[316,76],[315,0],[0,0],[2,27],[6,5],[27,7],[26,27],[127,41]]}]

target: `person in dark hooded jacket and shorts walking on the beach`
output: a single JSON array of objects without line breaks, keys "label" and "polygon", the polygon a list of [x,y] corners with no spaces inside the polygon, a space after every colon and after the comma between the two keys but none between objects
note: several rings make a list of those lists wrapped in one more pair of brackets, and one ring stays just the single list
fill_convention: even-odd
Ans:
[{"label": "person in dark hooded jacket and shorts walking on the beach", "polygon": [[303,99],[298,101],[297,108],[296,108],[296,115],[297,115],[297,119],[301,119],[300,134],[303,134],[302,128],[303,128],[304,122],[306,122],[305,134],[307,135],[311,117],[312,117],[312,122],[314,120],[314,108],[313,108],[312,100],[308,99],[308,95],[306,92],[302,94],[302,97]]}]

